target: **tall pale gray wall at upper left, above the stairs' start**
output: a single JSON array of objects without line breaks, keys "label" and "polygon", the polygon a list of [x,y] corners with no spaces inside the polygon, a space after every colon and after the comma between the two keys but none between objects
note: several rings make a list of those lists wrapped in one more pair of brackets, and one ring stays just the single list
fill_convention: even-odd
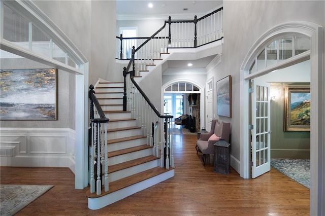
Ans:
[{"label": "tall pale gray wall at upper left, above the stairs' start", "polygon": [[115,1],[33,1],[89,61],[89,85],[122,80],[115,71]]}]

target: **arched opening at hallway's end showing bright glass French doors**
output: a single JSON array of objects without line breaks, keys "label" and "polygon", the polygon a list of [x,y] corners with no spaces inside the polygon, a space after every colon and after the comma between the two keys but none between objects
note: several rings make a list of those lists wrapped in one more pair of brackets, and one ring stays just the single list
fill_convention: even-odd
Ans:
[{"label": "arched opening at hallway's end showing bright glass French doors", "polygon": [[164,114],[173,115],[173,126],[190,133],[200,131],[201,87],[185,81],[163,86]]}]

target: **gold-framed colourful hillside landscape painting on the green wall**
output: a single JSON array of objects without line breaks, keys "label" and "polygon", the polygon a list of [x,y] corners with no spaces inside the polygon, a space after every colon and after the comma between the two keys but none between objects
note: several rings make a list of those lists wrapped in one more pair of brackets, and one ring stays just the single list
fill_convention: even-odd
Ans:
[{"label": "gold-framed colourful hillside landscape painting on the green wall", "polygon": [[310,88],[285,87],[284,131],[310,131]]}]

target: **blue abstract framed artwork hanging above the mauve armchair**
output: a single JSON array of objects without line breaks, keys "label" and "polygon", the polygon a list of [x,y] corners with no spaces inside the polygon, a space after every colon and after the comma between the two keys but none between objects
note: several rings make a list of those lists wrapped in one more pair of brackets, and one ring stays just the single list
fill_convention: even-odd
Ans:
[{"label": "blue abstract framed artwork hanging above the mauve armchair", "polygon": [[232,117],[232,77],[217,81],[217,115]]}]

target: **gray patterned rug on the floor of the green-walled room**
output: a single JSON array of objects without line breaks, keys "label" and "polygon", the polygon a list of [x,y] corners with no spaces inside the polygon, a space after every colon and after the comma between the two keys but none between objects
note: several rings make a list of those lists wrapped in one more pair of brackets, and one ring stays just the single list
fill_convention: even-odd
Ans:
[{"label": "gray patterned rug on the floor of the green-walled room", "polygon": [[271,166],[310,189],[310,160],[272,158]]}]

